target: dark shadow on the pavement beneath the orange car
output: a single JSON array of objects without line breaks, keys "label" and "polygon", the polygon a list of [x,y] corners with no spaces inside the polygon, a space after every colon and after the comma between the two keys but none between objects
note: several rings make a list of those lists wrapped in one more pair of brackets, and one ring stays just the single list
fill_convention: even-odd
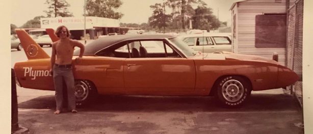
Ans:
[{"label": "dark shadow on the pavement beneath the orange car", "polygon": [[[40,96],[18,104],[22,109],[55,109],[54,95]],[[205,112],[243,112],[243,111],[302,111],[293,95],[251,94],[242,108],[228,109],[216,104],[214,97],[186,96],[99,96],[91,104],[79,107],[79,111],[205,111]]]}]

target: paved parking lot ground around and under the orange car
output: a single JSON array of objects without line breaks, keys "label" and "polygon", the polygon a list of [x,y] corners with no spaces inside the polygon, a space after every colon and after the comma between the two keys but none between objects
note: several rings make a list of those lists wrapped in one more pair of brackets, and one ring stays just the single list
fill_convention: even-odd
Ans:
[{"label": "paved parking lot ground around and under the orange car", "polygon": [[[43,47],[50,55],[51,47]],[[11,50],[11,66],[27,60]],[[17,87],[18,122],[27,133],[304,133],[302,108],[283,89],[252,92],[239,109],[213,97],[99,96],[79,113],[54,115],[54,91]]]}]

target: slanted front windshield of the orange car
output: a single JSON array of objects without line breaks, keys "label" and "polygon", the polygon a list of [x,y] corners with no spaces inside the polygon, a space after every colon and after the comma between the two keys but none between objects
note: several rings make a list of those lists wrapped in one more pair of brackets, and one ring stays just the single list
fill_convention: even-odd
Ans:
[{"label": "slanted front windshield of the orange car", "polygon": [[187,57],[195,56],[197,54],[197,51],[188,47],[188,45],[184,41],[182,41],[180,37],[171,38],[169,40],[172,42],[172,44],[175,44],[176,47]]}]

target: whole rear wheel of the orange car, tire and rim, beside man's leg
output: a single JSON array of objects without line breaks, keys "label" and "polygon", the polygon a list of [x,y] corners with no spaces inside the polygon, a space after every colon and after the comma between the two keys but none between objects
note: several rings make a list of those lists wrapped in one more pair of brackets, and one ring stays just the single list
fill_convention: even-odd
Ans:
[{"label": "whole rear wheel of the orange car, tire and rim, beside man's leg", "polygon": [[97,90],[94,84],[87,80],[75,81],[76,106],[90,103],[97,97]]}]

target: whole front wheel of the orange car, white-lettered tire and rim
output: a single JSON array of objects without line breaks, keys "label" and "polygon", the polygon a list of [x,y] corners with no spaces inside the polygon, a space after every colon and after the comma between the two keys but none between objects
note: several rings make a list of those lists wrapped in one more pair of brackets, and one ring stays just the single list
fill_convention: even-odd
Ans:
[{"label": "whole front wheel of the orange car, white-lettered tire and rim", "polygon": [[240,76],[226,76],[219,79],[216,98],[227,108],[238,108],[250,96],[251,86]]}]

